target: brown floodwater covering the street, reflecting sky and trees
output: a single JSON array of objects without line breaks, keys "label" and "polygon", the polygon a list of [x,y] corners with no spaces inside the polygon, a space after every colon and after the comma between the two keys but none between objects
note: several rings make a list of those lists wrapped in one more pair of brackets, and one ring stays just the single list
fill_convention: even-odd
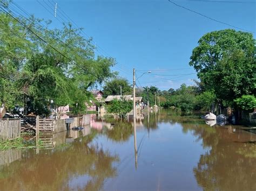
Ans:
[{"label": "brown floodwater covering the street, reflecting sky and trees", "polygon": [[158,110],[133,122],[93,118],[43,136],[47,150],[0,156],[0,190],[256,190],[256,135]]}]

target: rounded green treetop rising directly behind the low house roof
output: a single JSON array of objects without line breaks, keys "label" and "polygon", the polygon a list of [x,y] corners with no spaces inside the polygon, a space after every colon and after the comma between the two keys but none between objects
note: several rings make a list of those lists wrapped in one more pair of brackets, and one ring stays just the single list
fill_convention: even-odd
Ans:
[{"label": "rounded green treetop rising directly behind the low house roof", "polygon": [[120,95],[121,86],[122,86],[122,95],[132,93],[132,88],[128,80],[122,77],[117,77],[110,82],[106,82],[105,86],[103,87],[104,97],[107,97],[108,95]]}]

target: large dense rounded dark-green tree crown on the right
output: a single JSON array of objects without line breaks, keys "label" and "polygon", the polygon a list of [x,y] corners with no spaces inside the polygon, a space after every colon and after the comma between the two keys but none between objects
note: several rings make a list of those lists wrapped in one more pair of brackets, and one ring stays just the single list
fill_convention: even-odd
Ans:
[{"label": "large dense rounded dark-green tree crown on the right", "polygon": [[190,65],[206,90],[232,102],[256,94],[255,40],[251,33],[235,30],[205,34],[193,49]]}]

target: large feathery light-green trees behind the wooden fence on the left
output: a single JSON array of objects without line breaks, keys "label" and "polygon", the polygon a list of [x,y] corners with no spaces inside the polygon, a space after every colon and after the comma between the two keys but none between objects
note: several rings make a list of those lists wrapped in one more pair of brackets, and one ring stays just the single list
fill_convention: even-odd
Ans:
[{"label": "large feathery light-green trees behind the wooden fence on the left", "polygon": [[116,61],[95,58],[91,39],[85,39],[81,29],[71,24],[45,29],[40,25],[42,19],[17,19],[44,41],[8,14],[0,13],[0,103],[11,112],[23,108],[27,97],[28,113],[41,116],[50,114],[51,100],[55,106],[71,105],[75,113],[85,111],[84,103],[92,97],[87,89],[116,76],[110,69]]}]

